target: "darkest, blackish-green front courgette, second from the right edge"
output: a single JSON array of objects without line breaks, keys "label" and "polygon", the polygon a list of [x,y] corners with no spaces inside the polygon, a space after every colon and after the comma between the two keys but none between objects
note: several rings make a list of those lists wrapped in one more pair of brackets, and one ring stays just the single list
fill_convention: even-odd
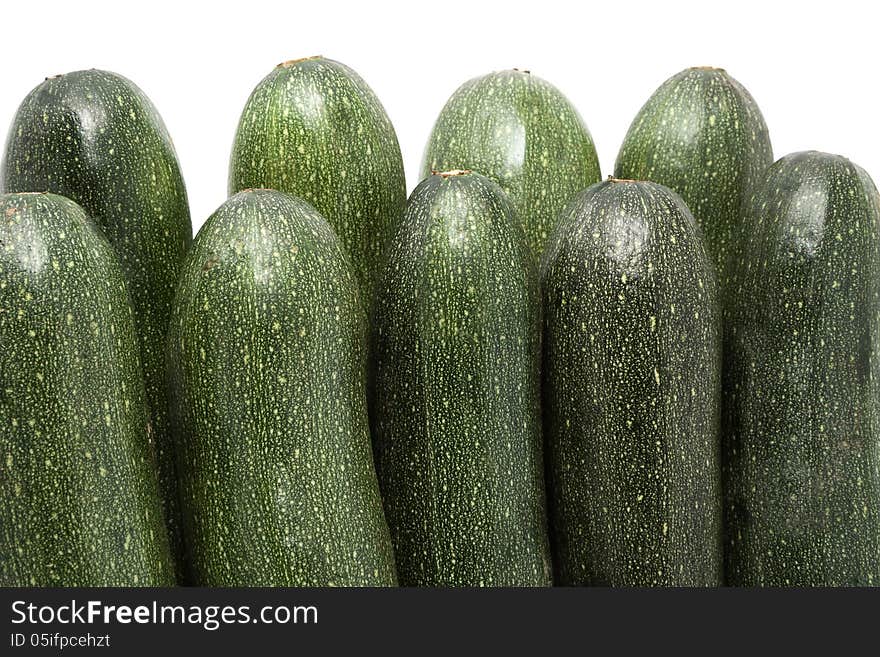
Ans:
[{"label": "darkest, blackish-green front courgette, second from the right edge", "polygon": [[720,584],[720,311],[693,216],[662,185],[594,185],[542,283],[557,582]]}]

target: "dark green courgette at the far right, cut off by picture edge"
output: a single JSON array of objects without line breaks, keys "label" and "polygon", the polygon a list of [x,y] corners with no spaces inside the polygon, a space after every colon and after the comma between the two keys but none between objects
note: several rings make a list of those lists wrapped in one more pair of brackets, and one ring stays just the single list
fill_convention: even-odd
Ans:
[{"label": "dark green courgette at the far right, cut off by picture edge", "polygon": [[880,584],[880,200],[849,160],[776,162],[728,309],[728,583]]}]

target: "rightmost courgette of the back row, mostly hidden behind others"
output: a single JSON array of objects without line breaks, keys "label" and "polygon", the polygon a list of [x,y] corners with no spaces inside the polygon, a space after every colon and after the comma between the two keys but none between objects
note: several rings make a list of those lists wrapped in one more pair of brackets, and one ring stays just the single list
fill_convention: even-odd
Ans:
[{"label": "rightmost courgette of the back row, mostly hidden behind others", "polygon": [[648,99],[623,140],[614,175],[652,180],[681,195],[703,230],[723,290],[742,204],[772,162],[752,96],[726,71],[701,67],[669,78]]}]

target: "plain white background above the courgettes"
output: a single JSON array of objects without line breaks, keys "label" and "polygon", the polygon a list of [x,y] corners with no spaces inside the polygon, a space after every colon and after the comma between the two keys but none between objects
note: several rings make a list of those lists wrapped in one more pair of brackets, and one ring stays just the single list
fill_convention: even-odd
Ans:
[{"label": "plain white background above the courgettes", "polygon": [[283,60],[320,54],[366,79],[397,129],[410,190],[437,113],[471,77],[516,67],[558,86],[589,126],[607,175],[654,89],[683,68],[711,65],[751,91],[776,157],[826,150],[880,181],[880,11],[873,5],[7,2],[0,138],[46,76],[82,68],[121,73],[153,100],[171,132],[197,229],[226,197],[245,100]]}]

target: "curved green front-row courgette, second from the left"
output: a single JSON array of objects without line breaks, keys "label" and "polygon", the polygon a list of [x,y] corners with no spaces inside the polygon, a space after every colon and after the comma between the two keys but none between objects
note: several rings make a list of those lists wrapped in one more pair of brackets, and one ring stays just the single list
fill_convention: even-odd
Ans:
[{"label": "curved green front-row courgette, second from the left", "polygon": [[167,353],[195,583],[395,583],[366,338],[348,257],[304,201],[242,192],[199,231]]}]

